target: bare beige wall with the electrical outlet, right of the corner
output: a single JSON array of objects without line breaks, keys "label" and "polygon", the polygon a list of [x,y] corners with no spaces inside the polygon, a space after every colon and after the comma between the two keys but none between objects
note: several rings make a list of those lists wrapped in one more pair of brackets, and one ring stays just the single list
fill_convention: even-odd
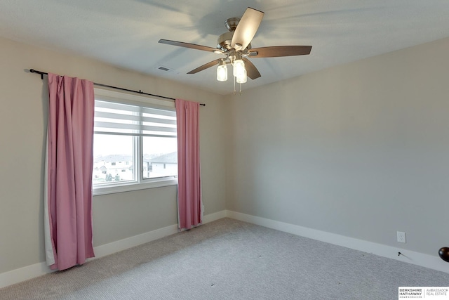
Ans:
[{"label": "bare beige wall with the electrical outlet, right of the corner", "polygon": [[437,256],[449,245],[448,49],[443,39],[234,96],[227,209]]}]

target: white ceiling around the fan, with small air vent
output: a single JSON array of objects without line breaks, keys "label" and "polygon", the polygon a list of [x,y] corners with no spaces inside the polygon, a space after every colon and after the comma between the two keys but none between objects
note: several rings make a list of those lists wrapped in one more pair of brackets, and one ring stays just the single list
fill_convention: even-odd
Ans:
[{"label": "white ceiling around the fan, with small air vent", "polygon": [[262,77],[243,91],[449,37],[448,0],[0,0],[0,36],[227,94],[232,80],[216,81],[215,67],[186,74],[222,56],[158,41],[215,47],[225,20],[248,6],[265,13],[253,48],[313,48],[309,56],[250,58]]}]

